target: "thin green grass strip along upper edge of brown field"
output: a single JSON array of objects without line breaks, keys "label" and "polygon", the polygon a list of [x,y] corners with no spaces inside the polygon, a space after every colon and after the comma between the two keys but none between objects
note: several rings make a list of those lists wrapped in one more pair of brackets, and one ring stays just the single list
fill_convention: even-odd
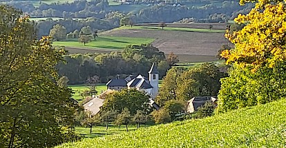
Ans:
[{"label": "thin green grass strip along upper edge of brown field", "polygon": [[[115,28],[115,30],[162,30],[159,26],[142,26],[142,25],[133,25],[131,28],[130,25],[122,26],[120,28]],[[224,33],[225,30],[209,30],[209,29],[196,29],[196,28],[169,28],[164,27],[162,31],[182,31],[182,32],[212,32],[212,33]]]}]

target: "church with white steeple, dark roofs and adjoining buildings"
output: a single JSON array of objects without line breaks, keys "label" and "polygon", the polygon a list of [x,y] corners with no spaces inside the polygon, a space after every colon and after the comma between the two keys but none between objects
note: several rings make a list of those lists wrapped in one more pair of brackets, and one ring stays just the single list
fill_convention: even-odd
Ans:
[{"label": "church with white steeple, dark roofs and adjoining buildings", "polygon": [[118,90],[121,89],[137,89],[141,92],[146,92],[154,100],[158,95],[159,88],[159,72],[155,63],[153,63],[149,70],[149,78],[145,78],[141,74],[134,76],[130,75],[124,79],[114,78],[106,83],[107,89]]}]

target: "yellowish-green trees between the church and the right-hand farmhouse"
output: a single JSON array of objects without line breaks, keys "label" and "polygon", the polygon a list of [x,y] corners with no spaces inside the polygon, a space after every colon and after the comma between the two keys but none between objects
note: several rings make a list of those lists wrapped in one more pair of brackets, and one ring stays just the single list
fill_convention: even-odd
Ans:
[{"label": "yellowish-green trees between the church and the right-hand farmhouse", "polygon": [[[219,67],[211,63],[189,70],[172,67],[164,77],[156,98],[161,108],[152,112],[153,120],[155,123],[169,123],[184,112],[186,101],[194,96],[217,96],[220,78],[225,76]],[[213,110],[213,105],[206,103],[198,109],[196,117],[211,116]]]}]

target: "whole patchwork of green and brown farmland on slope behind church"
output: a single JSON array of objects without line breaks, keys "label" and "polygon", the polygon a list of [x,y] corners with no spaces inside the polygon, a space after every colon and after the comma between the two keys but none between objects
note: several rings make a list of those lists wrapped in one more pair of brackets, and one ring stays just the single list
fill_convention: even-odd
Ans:
[{"label": "whole patchwork of green and brown farmland on slope behind church", "polygon": [[[213,29],[209,30],[209,25]],[[225,39],[225,30],[229,23],[168,23],[164,30],[158,23],[130,25],[99,33],[97,41],[86,46],[78,41],[54,42],[64,45],[70,54],[95,52],[120,52],[130,44],[152,43],[166,55],[173,52],[178,55],[180,63],[218,61],[216,55]]]}]

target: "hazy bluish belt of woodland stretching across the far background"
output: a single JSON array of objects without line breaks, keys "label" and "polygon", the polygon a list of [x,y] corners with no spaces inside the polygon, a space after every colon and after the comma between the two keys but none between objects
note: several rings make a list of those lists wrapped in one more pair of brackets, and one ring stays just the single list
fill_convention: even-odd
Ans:
[{"label": "hazy bluish belt of woodland stretching across the far background", "polygon": [[[205,2],[205,1],[204,1]],[[198,7],[173,7],[173,6],[151,6],[140,11],[126,12],[119,9],[123,6],[108,6],[108,1],[73,1],[72,3],[40,3],[35,8],[30,2],[11,1],[6,2],[11,6],[20,8],[30,17],[60,17],[61,20],[38,21],[39,37],[47,36],[53,25],[63,25],[67,32],[80,30],[84,26],[90,26],[96,30],[109,30],[134,23],[158,23],[174,22],[184,18],[195,18],[199,22],[226,22],[233,19],[239,13],[248,13],[254,5],[239,6],[236,1],[224,1],[222,6],[206,3]],[[28,3],[28,4],[27,4]],[[78,20],[73,20],[79,18]],[[82,18],[90,18],[81,20]],[[88,21],[88,22],[86,22]]]}]

